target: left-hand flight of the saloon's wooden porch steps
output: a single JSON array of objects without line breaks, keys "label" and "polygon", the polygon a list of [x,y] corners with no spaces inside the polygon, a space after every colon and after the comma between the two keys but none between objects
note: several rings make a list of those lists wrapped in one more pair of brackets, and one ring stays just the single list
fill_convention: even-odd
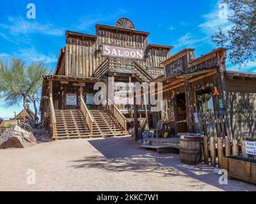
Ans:
[{"label": "left-hand flight of the saloon's wooden porch steps", "polygon": [[88,138],[90,129],[80,110],[55,110],[57,138]]}]

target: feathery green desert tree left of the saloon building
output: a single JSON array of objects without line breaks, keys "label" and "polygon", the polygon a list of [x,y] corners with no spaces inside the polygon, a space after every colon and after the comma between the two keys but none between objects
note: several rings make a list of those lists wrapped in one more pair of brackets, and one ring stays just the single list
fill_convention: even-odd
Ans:
[{"label": "feathery green desert tree left of the saloon building", "polygon": [[[26,66],[21,59],[13,58],[11,61],[0,61],[0,97],[6,106],[22,103],[32,126],[38,118],[36,103],[40,101],[40,89],[42,87],[42,75],[49,72],[43,62],[32,62]],[[31,101],[35,109],[33,116],[29,112],[26,101]]]}]

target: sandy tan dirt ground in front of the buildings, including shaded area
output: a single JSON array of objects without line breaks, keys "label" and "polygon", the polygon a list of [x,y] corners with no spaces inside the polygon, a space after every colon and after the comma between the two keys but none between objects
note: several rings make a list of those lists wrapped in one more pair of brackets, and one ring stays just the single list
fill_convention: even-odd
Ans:
[{"label": "sandy tan dirt ground in front of the buildings, including shaded area", "polygon": [[[27,183],[31,170],[35,185]],[[178,154],[141,149],[129,137],[0,150],[0,191],[256,191],[252,184],[220,185],[218,179],[211,166],[182,164]]]}]

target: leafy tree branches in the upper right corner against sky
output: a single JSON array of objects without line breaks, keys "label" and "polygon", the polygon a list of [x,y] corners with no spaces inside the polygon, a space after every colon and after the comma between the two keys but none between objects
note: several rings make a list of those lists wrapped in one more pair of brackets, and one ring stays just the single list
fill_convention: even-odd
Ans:
[{"label": "leafy tree branches in the upper right corner against sky", "polygon": [[246,64],[256,58],[256,1],[223,0],[228,5],[228,20],[232,26],[227,32],[219,29],[212,41],[229,49],[233,64]]}]

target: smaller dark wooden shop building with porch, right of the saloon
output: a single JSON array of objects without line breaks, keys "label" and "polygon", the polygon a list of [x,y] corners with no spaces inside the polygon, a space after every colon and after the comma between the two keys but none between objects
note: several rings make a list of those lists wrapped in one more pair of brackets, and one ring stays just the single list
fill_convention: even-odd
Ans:
[{"label": "smaller dark wooden shop building with porch, right of the saloon", "polygon": [[163,110],[155,113],[177,133],[242,138],[256,132],[256,74],[227,71],[226,49],[195,59],[184,49],[164,65]]}]

